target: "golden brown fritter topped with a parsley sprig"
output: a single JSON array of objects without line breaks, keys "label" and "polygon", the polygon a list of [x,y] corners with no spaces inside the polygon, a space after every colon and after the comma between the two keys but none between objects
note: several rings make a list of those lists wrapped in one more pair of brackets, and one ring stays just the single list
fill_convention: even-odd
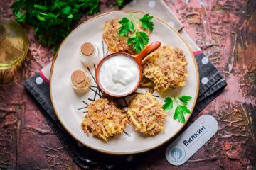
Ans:
[{"label": "golden brown fritter topped with a parsley sprig", "polygon": [[[132,35],[132,33],[123,37],[119,37],[118,35],[118,28],[122,26],[118,23],[120,19],[121,18],[114,18],[105,23],[102,38],[111,52],[127,52],[134,55],[136,52],[132,49],[132,46],[127,45],[127,39]],[[150,35],[151,32],[143,28],[139,23],[137,24],[137,27],[139,30],[144,31],[148,36]]]}]

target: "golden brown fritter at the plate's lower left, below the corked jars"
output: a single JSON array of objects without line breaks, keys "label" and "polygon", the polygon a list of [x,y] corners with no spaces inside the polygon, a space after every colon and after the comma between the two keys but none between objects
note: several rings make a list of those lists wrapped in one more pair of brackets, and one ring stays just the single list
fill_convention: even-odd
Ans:
[{"label": "golden brown fritter at the plate's lower left, below the corked jars", "polygon": [[100,98],[88,106],[88,114],[82,120],[82,130],[107,142],[109,137],[122,134],[127,121],[126,111],[118,108],[114,101]]}]

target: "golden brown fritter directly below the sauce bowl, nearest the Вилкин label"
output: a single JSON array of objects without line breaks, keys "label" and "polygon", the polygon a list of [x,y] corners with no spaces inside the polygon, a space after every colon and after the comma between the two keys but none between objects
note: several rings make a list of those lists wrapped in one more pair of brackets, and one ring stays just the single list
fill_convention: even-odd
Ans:
[{"label": "golden brown fritter directly below the sauce bowl, nearest the \u0412\u0438\u043b\u043a\u0438\u043d label", "polygon": [[164,129],[166,113],[161,103],[149,92],[134,96],[129,101],[127,114],[135,130],[146,135],[155,135]]}]

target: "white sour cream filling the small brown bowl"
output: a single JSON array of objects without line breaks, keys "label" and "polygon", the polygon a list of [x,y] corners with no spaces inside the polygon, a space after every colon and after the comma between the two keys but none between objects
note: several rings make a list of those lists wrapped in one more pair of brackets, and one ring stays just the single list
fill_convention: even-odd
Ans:
[{"label": "white sour cream filling the small brown bowl", "polygon": [[139,67],[129,57],[116,55],[105,60],[100,67],[100,84],[112,94],[124,95],[132,91],[139,81]]}]

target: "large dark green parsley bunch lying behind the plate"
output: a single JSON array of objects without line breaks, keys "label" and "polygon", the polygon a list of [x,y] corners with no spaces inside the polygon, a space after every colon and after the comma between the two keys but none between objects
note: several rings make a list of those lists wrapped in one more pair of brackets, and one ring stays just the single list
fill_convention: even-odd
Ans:
[{"label": "large dark green parsley bunch lying behind the plate", "polygon": [[[122,6],[123,0],[117,0]],[[100,11],[100,0],[14,0],[16,21],[33,26],[43,45],[58,45],[69,33],[75,21],[86,11],[92,15]]]}]

